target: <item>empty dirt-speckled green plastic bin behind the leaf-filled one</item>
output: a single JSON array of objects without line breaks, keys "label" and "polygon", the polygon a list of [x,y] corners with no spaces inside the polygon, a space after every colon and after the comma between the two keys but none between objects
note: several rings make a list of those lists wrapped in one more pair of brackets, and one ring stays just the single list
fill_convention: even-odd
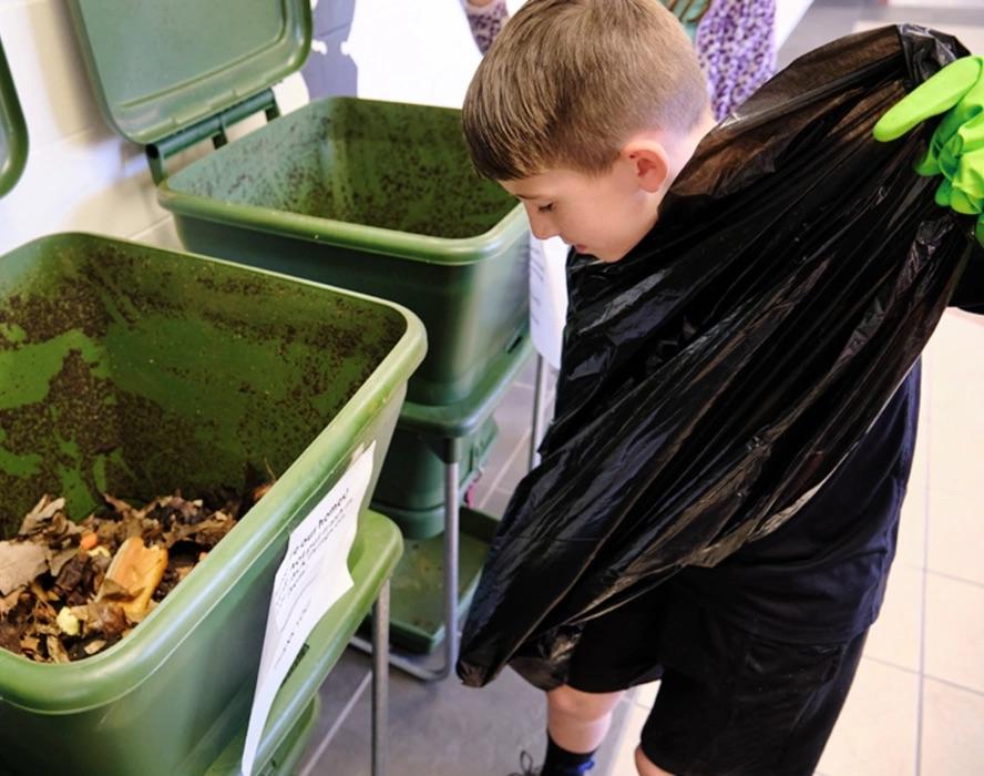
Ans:
[{"label": "empty dirt-speckled green plastic bin behind the leaf-filled one", "polygon": [[465,398],[529,310],[522,206],[472,171],[457,110],[329,98],[165,180],[192,251],[406,305],[428,356],[408,399]]}]

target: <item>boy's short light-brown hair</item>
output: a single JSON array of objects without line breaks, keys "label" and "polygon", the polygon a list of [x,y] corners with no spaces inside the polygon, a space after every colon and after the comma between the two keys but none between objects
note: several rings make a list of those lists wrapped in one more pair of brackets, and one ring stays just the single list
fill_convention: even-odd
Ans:
[{"label": "boy's short light-brown hair", "polygon": [[683,27],[658,0],[530,0],[479,65],[462,110],[479,173],[608,170],[645,129],[687,132],[707,86]]}]

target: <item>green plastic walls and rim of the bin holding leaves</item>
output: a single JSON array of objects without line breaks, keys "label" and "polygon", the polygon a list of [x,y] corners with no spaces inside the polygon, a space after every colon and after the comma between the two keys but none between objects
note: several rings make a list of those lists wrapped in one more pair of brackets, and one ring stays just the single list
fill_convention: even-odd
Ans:
[{"label": "green plastic walls and rim of the bin holding leaves", "polygon": [[105,652],[45,665],[0,651],[9,773],[209,766],[246,724],[290,530],[373,441],[375,484],[423,349],[396,305],[226,262],[90,235],[0,257],[7,533],[44,492],[82,518],[101,490],[147,499],[279,477]]}]

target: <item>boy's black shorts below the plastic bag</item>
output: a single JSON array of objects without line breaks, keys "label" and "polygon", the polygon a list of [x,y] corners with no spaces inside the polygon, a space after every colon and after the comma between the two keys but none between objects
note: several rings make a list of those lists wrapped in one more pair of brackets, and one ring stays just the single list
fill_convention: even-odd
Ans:
[{"label": "boy's black shorts below the plastic bag", "polygon": [[754,636],[670,583],[592,621],[567,683],[605,693],[662,677],[640,745],[676,776],[809,776],[865,635],[808,646]]}]

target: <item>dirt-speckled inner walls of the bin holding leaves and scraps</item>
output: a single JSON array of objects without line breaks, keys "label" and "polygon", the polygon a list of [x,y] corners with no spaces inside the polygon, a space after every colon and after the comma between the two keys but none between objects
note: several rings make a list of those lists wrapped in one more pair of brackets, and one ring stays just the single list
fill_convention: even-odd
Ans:
[{"label": "dirt-speckled inner walls of the bin holding leaves and scraps", "polygon": [[281,474],[406,330],[319,287],[79,245],[44,267],[70,277],[0,297],[0,539],[40,493],[81,519],[105,490],[147,500]]}]

